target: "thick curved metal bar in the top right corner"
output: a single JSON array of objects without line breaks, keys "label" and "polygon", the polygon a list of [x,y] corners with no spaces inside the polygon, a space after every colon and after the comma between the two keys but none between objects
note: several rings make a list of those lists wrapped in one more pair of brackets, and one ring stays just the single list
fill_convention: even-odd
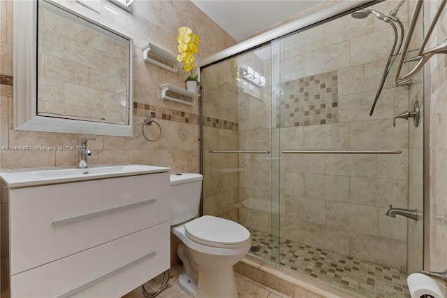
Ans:
[{"label": "thick curved metal bar in the top right corner", "polygon": [[423,0],[418,0],[416,2],[416,6],[413,10],[413,15],[411,16],[411,21],[409,24],[408,34],[406,35],[404,48],[402,48],[402,56],[400,57],[400,62],[397,65],[397,71],[395,75],[395,83],[396,85],[400,85],[400,83],[405,82],[406,80],[409,80],[411,76],[413,76],[416,72],[418,72],[422,67],[427,63],[428,59],[430,59],[435,54],[447,54],[447,38],[444,42],[440,43],[439,45],[434,46],[433,48],[430,48],[428,50],[425,50],[425,45],[427,44],[427,41],[430,39],[430,36],[432,35],[432,31],[434,29],[434,26],[439,20],[439,17],[441,16],[442,10],[444,9],[444,6],[446,6],[446,0],[441,1],[441,4],[439,4],[439,8],[437,10],[436,15],[434,15],[434,18],[432,20],[432,23],[430,24],[430,28],[427,30],[427,35],[425,36],[422,44],[420,45],[418,57],[421,59],[419,60],[418,64],[413,67],[409,73],[406,73],[406,75],[400,76],[400,71],[402,71],[402,66],[404,64],[404,60],[406,57],[406,53],[408,51],[409,43],[411,41],[411,37],[413,36],[414,28],[416,27],[416,22],[418,20],[418,15],[420,13],[420,9],[422,8]]}]

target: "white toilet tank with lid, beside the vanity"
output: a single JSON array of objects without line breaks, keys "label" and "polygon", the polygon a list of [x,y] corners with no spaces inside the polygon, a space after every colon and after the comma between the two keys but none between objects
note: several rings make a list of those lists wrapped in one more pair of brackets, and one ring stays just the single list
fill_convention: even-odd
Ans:
[{"label": "white toilet tank with lid, beside the vanity", "polygon": [[199,215],[203,176],[198,173],[170,175],[170,225],[179,225]]}]

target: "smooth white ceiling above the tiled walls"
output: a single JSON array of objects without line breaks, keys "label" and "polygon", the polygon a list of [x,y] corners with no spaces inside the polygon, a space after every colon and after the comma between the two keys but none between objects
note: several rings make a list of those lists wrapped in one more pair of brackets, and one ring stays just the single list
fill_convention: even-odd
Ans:
[{"label": "smooth white ceiling above the tiled walls", "polygon": [[191,0],[236,41],[300,13],[319,0]]}]

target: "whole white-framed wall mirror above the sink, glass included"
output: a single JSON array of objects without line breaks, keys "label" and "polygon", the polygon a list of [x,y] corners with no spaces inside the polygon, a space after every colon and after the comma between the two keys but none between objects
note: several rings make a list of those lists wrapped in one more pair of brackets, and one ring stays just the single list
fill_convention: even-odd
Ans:
[{"label": "whole white-framed wall mirror above the sink, glass included", "polygon": [[52,1],[13,13],[14,129],[132,136],[132,39]]}]

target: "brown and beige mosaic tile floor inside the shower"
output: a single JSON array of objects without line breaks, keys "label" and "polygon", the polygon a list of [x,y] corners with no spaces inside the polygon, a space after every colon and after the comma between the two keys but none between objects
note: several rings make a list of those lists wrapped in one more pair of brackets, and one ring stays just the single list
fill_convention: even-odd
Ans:
[{"label": "brown and beige mosaic tile floor inside the shower", "polygon": [[299,272],[323,281],[326,285],[365,297],[411,297],[406,285],[407,275],[398,269],[330,253],[287,239],[280,239],[279,246],[272,246],[271,235],[249,230],[251,255],[279,263],[281,268],[288,271]]}]

